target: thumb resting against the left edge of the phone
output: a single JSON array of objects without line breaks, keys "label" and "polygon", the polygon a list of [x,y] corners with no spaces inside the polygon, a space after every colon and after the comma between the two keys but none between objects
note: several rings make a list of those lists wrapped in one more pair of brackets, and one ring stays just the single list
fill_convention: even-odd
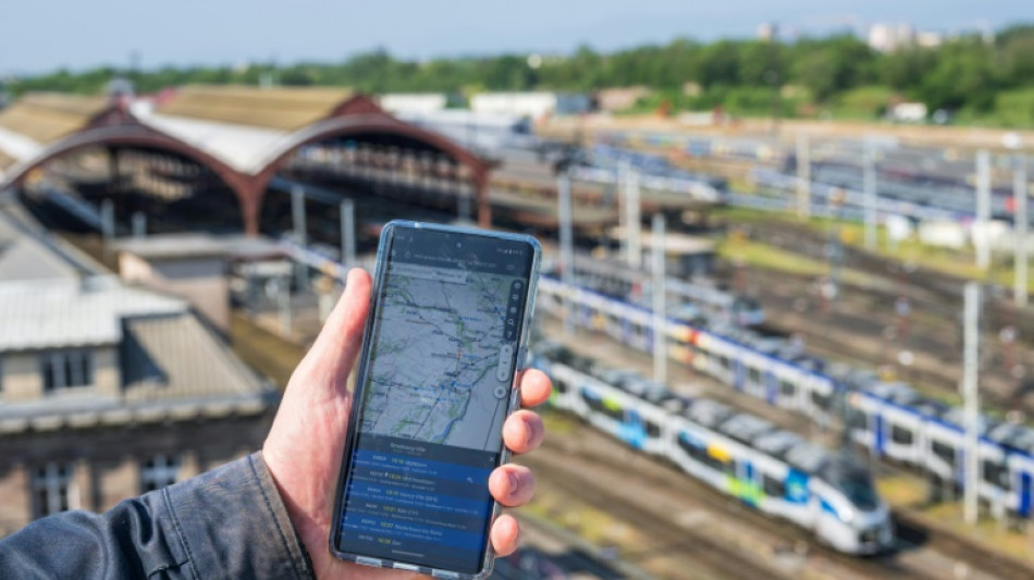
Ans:
[{"label": "thumb resting against the left edge of the phone", "polygon": [[370,311],[370,274],[365,270],[348,271],[345,292],[299,365],[322,375],[327,380],[324,384],[343,387],[352,372]]}]

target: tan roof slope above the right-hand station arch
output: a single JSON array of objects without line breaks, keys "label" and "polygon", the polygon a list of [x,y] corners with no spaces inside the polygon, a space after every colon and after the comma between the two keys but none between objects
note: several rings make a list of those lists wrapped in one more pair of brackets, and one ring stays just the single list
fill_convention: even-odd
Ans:
[{"label": "tan roof slope above the right-hand station arch", "polygon": [[160,103],[156,112],[285,133],[330,116],[352,96],[350,89],[335,87],[188,85]]}]

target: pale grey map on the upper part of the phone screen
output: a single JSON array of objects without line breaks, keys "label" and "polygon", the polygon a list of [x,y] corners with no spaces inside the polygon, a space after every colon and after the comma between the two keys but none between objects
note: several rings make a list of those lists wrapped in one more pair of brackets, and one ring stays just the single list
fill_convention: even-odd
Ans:
[{"label": "pale grey map on the upper part of the phone screen", "polygon": [[364,433],[498,452],[524,279],[394,262],[365,390]]}]

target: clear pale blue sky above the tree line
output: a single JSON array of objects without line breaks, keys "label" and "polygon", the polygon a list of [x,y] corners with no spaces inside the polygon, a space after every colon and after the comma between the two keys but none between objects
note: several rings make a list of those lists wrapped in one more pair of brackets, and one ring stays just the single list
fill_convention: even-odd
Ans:
[{"label": "clear pale blue sky above the tree line", "polygon": [[4,0],[0,75],[127,65],[611,50],[676,36],[824,34],[873,22],[952,32],[1034,22],[1034,0]]}]

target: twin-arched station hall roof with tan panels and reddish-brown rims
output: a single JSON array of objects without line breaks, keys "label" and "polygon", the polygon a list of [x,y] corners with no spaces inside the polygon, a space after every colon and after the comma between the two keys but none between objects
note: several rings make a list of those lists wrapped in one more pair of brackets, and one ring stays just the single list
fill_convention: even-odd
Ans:
[{"label": "twin-arched station hall roof with tan panels and reddish-brown rims", "polygon": [[264,192],[275,173],[298,149],[330,139],[430,150],[466,166],[478,221],[490,224],[490,163],[345,88],[187,86],[132,101],[26,96],[0,113],[0,163],[7,162],[0,164],[5,172],[0,173],[0,188],[84,147],[165,150],[219,175],[238,198],[246,231],[257,233]]}]

